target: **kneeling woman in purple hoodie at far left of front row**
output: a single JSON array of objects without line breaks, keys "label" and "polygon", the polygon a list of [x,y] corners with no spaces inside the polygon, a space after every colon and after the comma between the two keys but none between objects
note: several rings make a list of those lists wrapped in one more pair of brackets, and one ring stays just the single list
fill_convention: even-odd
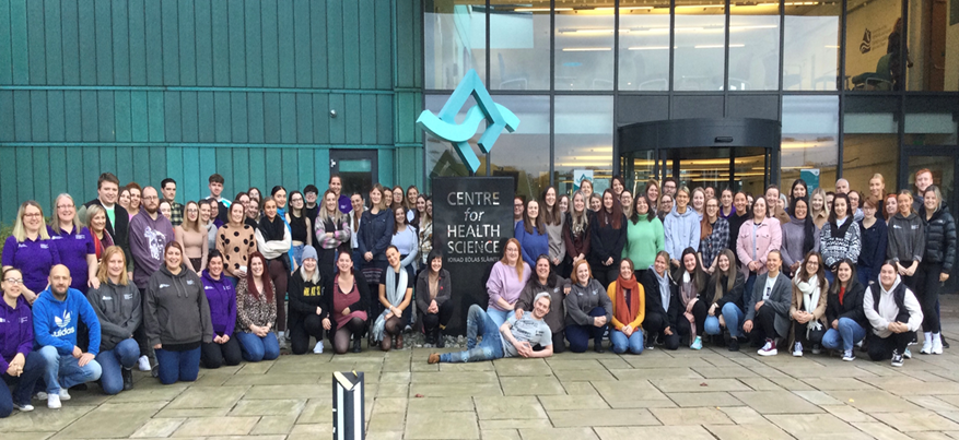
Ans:
[{"label": "kneeling woman in purple hoodie at far left of front row", "polygon": [[[46,368],[46,360],[33,350],[33,318],[23,297],[23,273],[19,269],[4,269],[2,280],[3,300],[0,301],[0,418],[9,416],[13,408],[33,411],[30,404],[33,387]],[[17,384],[19,383],[19,384]],[[10,385],[16,392],[10,393]]]}]

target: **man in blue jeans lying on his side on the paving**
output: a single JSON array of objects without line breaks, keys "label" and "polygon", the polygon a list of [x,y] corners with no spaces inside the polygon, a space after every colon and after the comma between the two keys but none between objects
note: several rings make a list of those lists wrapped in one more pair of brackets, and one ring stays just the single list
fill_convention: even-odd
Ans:
[{"label": "man in blue jeans lying on his side on the paving", "polygon": [[[472,305],[466,321],[466,350],[459,353],[433,353],[428,361],[436,362],[478,362],[504,357],[549,357],[552,356],[552,332],[543,318],[549,313],[551,298],[549,293],[540,293],[533,301],[533,311],[523,318],[510,316],[501,326],[479,306]],[[477,335],[483,340],[476,342]],[[533,347],[543,347],[535,352]]]}]

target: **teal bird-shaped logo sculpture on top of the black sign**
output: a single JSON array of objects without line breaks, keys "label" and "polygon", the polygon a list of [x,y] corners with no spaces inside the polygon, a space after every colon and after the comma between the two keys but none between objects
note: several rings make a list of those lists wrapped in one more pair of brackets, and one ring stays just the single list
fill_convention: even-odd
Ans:
[{"label": "teal bird-shaped logo sculpture on top of the black sign", "polygon": [[[470,96],[477,104],[467,110],[466,120],[457,124],[456,114]],[[503,129],[512,133],[519,127],[519,118],[508,108],[494,103],[476,70],[470,69],[449,95],[440,114],[433,115],[430,110],[423,110],[417,118],[417,126],[436,138],[453,143],[463,163],[476,173],[480,165],[479,158],[467,141],[476,134],[483,119],[487,120],[487,129],[477,142],[483,153],[493,150],[493,144],[496,143]]]}]

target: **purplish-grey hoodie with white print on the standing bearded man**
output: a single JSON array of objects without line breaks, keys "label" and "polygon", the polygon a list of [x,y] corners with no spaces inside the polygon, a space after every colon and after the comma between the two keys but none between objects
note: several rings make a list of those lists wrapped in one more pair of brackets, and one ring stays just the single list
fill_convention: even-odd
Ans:
[{"label": "purplish-grey hoodie with white print on the standing bearded man", "polygon": [[130,221],[130,254],[137,287],[147,288],[150,275],[163,265],[163,248],[171,241],[176,241],[173,225],[159,211],[156,218],[151,218],[145,210],[141,210]]}]

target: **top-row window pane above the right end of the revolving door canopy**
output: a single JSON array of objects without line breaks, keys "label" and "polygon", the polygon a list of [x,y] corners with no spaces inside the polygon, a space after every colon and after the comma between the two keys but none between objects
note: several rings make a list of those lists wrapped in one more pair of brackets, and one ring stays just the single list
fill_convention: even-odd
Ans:
[{"label": "top-row window pane above the right end of the revolving door canopy", "polygon": [[777,2],[734,2],[729,10],[729,90],[780,88]]}]

